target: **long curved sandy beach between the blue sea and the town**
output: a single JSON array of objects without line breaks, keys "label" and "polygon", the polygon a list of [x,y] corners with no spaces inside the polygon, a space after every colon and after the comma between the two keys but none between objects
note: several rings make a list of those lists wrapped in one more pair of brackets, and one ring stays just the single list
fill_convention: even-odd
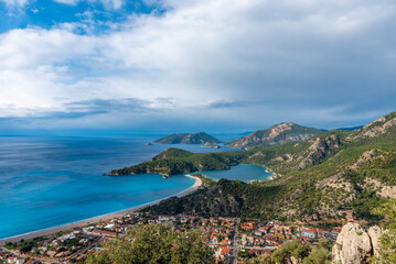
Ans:
[{"label": "long curved sandy beach between the blue sea and the town", "polygon": [[105,213],[105,215],[101,215],[101,216],[98,216],[98,217],[93,217],[93,218],[79,220],[79,221],[72,222],[72,223],[65,223],[65,224],[61,224],[61,226],[53,227],[53,228],[42,229],[42,230],[38,230],[38,231],[32,231],[32,232],[29,232],[29,233],[23,233],[23,234],[18,234],[18,235],[14,235],[14,237],[0,239],[0,246],[4,245],[8,242],[15,243],[15,242],[20,242],[22,239],[23,240],[31,240],[31,239],[34,239],[34,238],[38,238],[38,237],[50,235],[50,234],[54,234],[54,233],[63,232],[63,231],[71,231],[71,230],[82,228],[82,227],[85,227],[85,226],[89,226],[89,224],[93,224],[93,223],[98,223],[98,222],[111,220],[114,218],[119,218],[119,217],[122,217],[122,216],[125,216],[127,213],[136,212],[138,210],[143,209],[143,208],[158,205],[161,201],[164,201],[164,200],[167,200],[167,199],[169,199],[171,197],[179,197],[180,198],[180,197],[191,195],[191,194],[195,193],[202,186],[202,180],[199,177],[194,177],[194,176],[191,176],[191,175],[184,175],[184,176],[195,179],[194,185],[191,186],[190,188],[185,189],[185,190],[180,191],[179,194],[173,195],[173,196],[169,196],[169,197],[165,197],[165,198],[162,198],[162,199],[159,199],[159,200],[150,201],[150,202],[147,202],[147,204],[143,204],[143,205],[140,205],[140,206],[135,206],[135,207],[124,209],[124,210],[120,210],[120,211],[109,212],[109,213]]}]

